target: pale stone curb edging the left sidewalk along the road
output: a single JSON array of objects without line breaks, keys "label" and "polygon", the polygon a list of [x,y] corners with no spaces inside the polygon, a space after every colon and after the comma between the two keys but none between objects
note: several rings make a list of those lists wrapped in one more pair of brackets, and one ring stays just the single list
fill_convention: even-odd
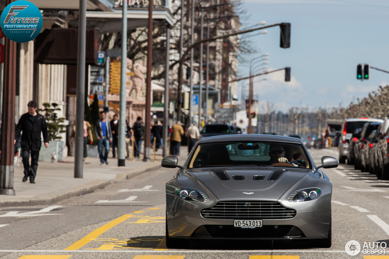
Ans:
[{"label": "pale stone curb edging the left sidewalk along the road", "polygon": [[57,203],[66,199],[70,199],[75,196],[84,195],[87,193],[92,193],[97,189],[102,189],[109,184],[113,184],[116,182],[120,182],[122,180],[131,179],[133,177],[137,177],[138,175],[142,175],[144,173],[151,172],[153,170],[158,170],[161,168],[161,165],[155,165],[150,168],[146,168],[144,170],[135,171],[133,173],[128,174],[118,174],[115,179],[112,180],[94,180],[93,182],[89,182],[88,184],[82,184],[79,186],[75,186],[72,188],[68,188],[65,190],[57,191],[51,194],[44,194],[37,196],[33,199],[28,200],[14,200],[14,201],[0,201],[0,208],[4,207],[20,207],[20,206],[36,206],[36,205],[51,205],[53,203]]}]

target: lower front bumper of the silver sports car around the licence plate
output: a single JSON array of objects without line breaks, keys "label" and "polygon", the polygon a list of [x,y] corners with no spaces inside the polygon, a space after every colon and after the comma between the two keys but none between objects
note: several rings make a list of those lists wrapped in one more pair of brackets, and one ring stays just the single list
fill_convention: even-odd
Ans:
[{"label": "lower front bumper of the silver sports car around the licence plate", "polygon": [[[199,211],[188,210],[166,210],[166,222],[168,233],[171,237],[177,238],[206,238],[206,239],[312,239],[327,238],[331,209],[296,212],[293,219],[264,219],[263,229],[244,229],[237,232],[237,236],[223,237],[221,229],[232,229],[232,219],[205,219]],[[214,226],[216,231],[210,231]],[[222,226],[221,229],[218,229]],[[275,235],[268,235],[270,229],[274,229]],[[203,230],[206,230],[205,232]],[[235,229],[237,230],[237,229]],[[239,229],[240,230],[240,229]],[[244,231],[247,231],[247,238],[244,238]],[[253,231],[259,231],[256,236]],[[262,231],[262,232],[261,232]],[[231,231],[230,231],[231,232]],[[225,235],[224,235],[225,236]]]}]

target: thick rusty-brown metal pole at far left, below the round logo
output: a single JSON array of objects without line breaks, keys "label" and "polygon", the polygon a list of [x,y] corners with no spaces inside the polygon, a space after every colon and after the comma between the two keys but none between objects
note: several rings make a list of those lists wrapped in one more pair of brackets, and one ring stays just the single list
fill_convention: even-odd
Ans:
[{"label": "thick rusty-brown metal pole at far left, below the round logo", "polygon": [[[5,6],[12,0],[7,0]],[[16,42],[5,37],[4,81],[1,125],[0,194],[15,195],[14,190],[14,139],[16,94]]]}]

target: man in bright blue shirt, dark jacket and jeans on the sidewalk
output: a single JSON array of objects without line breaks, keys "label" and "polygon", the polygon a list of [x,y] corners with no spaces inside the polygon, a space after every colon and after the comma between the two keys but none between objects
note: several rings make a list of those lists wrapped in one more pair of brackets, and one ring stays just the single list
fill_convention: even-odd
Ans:
[{"label": "man in bright blue shirt, dark jacket and jeans on the sidewalk", "polygon": [[[100,165],[108,165],[109,144],[112,143],[112,131],[108,121],[105,120],[105,112],[100,112],[100,119],[95,124],[95,134],[97,137],[97,150],[100,157]],[[105,152],[103,154],[103,147]]]}]

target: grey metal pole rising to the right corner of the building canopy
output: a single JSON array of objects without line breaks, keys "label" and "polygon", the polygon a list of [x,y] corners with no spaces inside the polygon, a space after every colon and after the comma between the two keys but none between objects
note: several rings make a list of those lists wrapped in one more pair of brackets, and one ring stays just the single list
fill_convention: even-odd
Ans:
[{"label": "grey metal pole rising to the right corner of the building canopy", "polygon": [[[184,1],[182,1],[184,2]],[[181,20],[182,21],[182,20]],[[169,122],[169,51],[170,51],[170,28],[166,28],[166,61],[165,61],[165,96],[163,103],[163,129],[162,129],[162,138],[163,138],[163,150],[162,156],[168,156],[168,122]]]}]

